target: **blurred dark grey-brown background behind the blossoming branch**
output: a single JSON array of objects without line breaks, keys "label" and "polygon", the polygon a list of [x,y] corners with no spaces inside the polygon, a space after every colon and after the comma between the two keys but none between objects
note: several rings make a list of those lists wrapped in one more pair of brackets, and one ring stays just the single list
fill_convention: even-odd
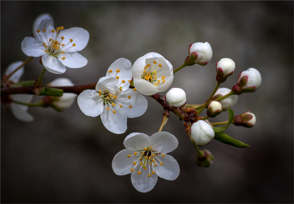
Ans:
[{"label": "blurred dark grey-brown background behind the blossoming branch", "polygon": [[[90,40],[80,53],[81,69],[46,72],[74,84],[97,82],[118,58],[132,63],[157,52],[180,66],[188,46],[209,42],[213,58],[175,74],[172,87],[186,91],[187,103],[201,104],[216,85],[215,64],[235,61],[235,73],[221,85],[231,88],[250,67],[262,75],[254,93],[240,95],[235,114],[251,110],[253,128],[230,126],[228,135],[249,144],[238,149],[212,140],[201,149],[215,156],[213,165],[195,165],[196,151],[183,122],[171,114],[163,131],[176,136],[171,152],[181,173],[175,181],[158,178],[146,194],[133,188],[130,175],[117,176],[111,162],[132,132],[151,135],[160,127],[163,108],[150,97],[146,113],[128,119],[124,134],[109,132],[100,117],[84,115],[77,102],[64,112],[29,108],[35,117],[23,123],[1,104],[1,203],[293,203],[293,1],[1,1],[1,75],[26,60],[21,41],[34,19],[54,17],[55,26],[82,27]],[[25,67],[22,80],[42,71],[39,58]],[[165,94],[163,92],[162,94]],[[34,101],[40,100],[35,96]],[[211,121],[227,120],[227,112]]]}]

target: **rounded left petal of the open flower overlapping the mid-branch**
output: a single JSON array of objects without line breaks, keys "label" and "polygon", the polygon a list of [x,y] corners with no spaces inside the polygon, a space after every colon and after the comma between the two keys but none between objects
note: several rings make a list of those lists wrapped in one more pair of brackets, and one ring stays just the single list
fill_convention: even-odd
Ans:
[{"label": "rounded left petal of the open flower overlapping the mid-branch", "polygon": [[84,90],[78,96],[78,106],[87,115],[96,117],[104,111],[103,99],[96,95],[95,90]]}]

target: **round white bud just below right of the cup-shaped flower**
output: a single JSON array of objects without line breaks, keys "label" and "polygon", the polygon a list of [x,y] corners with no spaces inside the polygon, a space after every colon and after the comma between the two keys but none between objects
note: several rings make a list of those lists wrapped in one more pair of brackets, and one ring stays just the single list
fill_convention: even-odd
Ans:
[{"label": "round white bud just below right of the cup-shaped flower", "polygon": [[166,102],[172,108],[180,108],[186,104],[186,93],[180,88],[171,88],[165,95]]}]

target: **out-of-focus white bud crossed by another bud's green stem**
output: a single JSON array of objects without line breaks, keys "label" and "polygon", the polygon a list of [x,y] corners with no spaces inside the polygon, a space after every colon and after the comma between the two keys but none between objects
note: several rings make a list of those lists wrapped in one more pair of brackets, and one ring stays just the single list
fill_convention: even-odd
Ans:
[{"label": "out-of-focus white bud crossed by another bud's green stem", "polygon": [[[222,97],[224,95],[227,95],[228,93],[230,93],[231,90],[228,88],[219,88],[216,93],[213,96],[213,100],[219,97]],[[238,101],[238,96],[237,95],[231,95],[229,97],[226,97],[222,100],[220,100],[220,104],[222,104],[223,106],[223,110],[227,110],[228,108],[233,107]]]}]

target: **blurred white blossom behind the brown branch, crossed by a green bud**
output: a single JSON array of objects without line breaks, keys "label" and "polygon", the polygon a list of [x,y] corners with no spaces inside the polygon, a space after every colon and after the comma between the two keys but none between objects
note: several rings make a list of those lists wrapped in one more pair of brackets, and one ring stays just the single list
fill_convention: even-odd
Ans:
[{"label": "blurred white blossom behind the brown branch, crossed by a green bud", "polygon": [[[56,78],[55,80],[50,82],[48,86],[74,86],[74,83],[71,82],[71,80],[68,78],[61,77]],[[72,106],[76,97],[77,95],[74,93],[64,93],[61,97],[54,97],[56,100],[54,100],[53,104],[59,108],[66,109]]]}]

